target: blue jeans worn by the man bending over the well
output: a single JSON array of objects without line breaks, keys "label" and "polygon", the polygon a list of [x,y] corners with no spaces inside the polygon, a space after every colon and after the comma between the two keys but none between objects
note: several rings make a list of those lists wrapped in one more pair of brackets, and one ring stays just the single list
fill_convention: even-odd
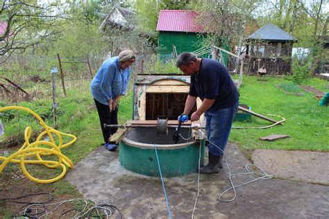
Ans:
[{"label": "blue jeans worn by the man bending over the well", "polygon": [[205,112],[205,131],[210,141],[208,149],[212,155],[223,155],[238,106],[239,103],[236,103],[233,107],[219,109],[217,112]]}]

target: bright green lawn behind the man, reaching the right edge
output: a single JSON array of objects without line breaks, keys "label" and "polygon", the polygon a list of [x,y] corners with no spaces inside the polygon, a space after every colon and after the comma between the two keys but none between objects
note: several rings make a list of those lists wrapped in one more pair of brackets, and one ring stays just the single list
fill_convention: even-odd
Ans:
[{"label": "bright green lawn behind the man, reaching the right edge", "polygon": [[[329,151],[329,107],[320,107],[319,100],[312,94],[302,91],[303,96],[287,95],[275,84],[285,82],[282,78],[258,78],[245,76],[239,89],[240,103],[251,106],[251,110],[267,116],[276,114],[286,119],[283,125],[268,129],[237,130],[233,129],[229,141],[238,143],[242,149],[278,149],[278,150],[314,150]],[[328,92],[328,82],[318,78],[307,80],[305,85],[311,85]],[[276,116],[269,116],[280,120]],[[233,126],[263,126],[271,123],[252,116],[251,123],[233,123]],[[288,134],[290,138],[276,141],[260,141],[259,137],[269,134]]]}]

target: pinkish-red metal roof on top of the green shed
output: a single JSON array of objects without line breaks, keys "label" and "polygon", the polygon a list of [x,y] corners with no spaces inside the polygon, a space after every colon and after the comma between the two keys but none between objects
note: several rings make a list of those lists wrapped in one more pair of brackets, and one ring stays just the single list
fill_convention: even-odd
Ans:
[{"label": "pinkish-red metal roof on top of the green shed", "polygon": [[161,10],[156,30],[176,32],[203,32],[196,22],[198,14],[192,10]]}]

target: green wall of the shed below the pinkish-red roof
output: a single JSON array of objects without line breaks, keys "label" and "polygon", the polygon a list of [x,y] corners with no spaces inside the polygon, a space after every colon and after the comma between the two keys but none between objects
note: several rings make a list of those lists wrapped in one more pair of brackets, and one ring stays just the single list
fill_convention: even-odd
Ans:
[{"label": "green wall of the shed below the pinkish-red roof", "polygon": [[179,55],[183,52],[192,52],[200,49],[200,42],[201,40],[196,33],[160,31],[158,37],[159,58],[161,60],[172,58],[173,44],[176,46],[176,51]]}]

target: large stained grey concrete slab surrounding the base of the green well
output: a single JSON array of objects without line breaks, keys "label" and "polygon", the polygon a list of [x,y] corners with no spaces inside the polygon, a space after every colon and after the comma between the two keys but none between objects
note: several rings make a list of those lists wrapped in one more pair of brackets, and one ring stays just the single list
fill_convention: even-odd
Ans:
[{"label": "large stained grey concrete slab surrounding the base of the green well", "polygon": [[[239,148],[228,145],[233,173],[244,173],[248,160]],[[237,189],[233,202],[219,202],[230,187],[226,164],[220,173],[201,175],[195,218],[328,218],[329,187],[282,179],[260,179]],[[85,198],[119,207],[124,218],[167,218],[167,206],[158,177],[146,177],[119,165],[118,152],[101,147],[74,166],[65,177]],[[233,177],[234,184],[254,177]],[[198,191],[198,174],[165,178],[172,218],[191,218]],[[232,198],[233,193],[226,195]]]}]

